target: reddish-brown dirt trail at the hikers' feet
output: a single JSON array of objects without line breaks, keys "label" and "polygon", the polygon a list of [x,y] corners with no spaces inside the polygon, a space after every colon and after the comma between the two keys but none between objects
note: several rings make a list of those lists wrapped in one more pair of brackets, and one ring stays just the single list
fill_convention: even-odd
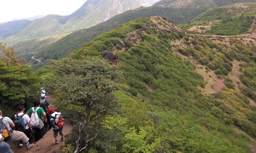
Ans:
[{"label": "reddish-brown dirt trail at the hikers' feet", "polygon": [[[50,106],[56,110],[57,108],[51,105],[52,101],[54,101],[54,98],[47,95],[47,99],[50,103]],[[67,135],[70,132],[70,130],[72,130],[72,125],[70,125],[69,123],[66,122],[66,125],[63,127],[64,135]],[[59,148],[61,146],[63,146],[65,144],[64,141],[60,141],[61,136],[58,135],[57,138],[58,138],[57,140],[59,143],[55,144],[55,139],[53,137],[53,130],[51,129],[39,141],[33,142],[34,147],[31,148],[30,150],[27,151],[25,145],[23,147],[14,146],[14,147],[12,147],[12,150],[14,151],[14,153],[23,153],[23,152],[26,152],[26,153],[45,153],[45,152],[55,153],[59,150]]]}]

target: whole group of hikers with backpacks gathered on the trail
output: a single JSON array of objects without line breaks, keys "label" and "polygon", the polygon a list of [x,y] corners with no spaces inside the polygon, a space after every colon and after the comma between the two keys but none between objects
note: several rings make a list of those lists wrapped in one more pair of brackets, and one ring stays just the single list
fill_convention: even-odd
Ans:
[{"label": "whole group of hikers with backpacks gathered on the trail", "polygon": [[26,114],[23,105],[17,107],[13,120],[3,117],[3,112],[0,110],[0,152],[12,153],[9,144],[6,143],[8,140],[17,140],[20,142],[20,147],[25,144],[27,150],[31,149],[34,146],[32,130],[35,141],[41,139],[51,128],[53,128],[55,144],[58,143],[58,133],[61,136],[60,140],[63,141],[65,122],[60,114],[49,106],[44,88],[41,88],[40,98],[34,101],[34,107],[31,107]]}]

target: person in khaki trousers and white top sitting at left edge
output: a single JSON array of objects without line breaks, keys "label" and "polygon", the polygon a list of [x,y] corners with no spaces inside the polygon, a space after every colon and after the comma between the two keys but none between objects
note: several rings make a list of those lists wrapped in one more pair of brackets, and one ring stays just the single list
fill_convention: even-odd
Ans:
[{"label": "person in khaki trousers and white top sitting at left edge", "polygon": [[26,144],[27,150],[31,149],[34,146],[33,143],[32,144],[29,143],[29,138],[23,132],[15,131],[11,129],[11,127],[15,127],[15,124],[12,122],[12,120],[9,117],[3,117],[3,113],[1,110],[0,110],[0,119],[1,119],[1,124],[6,127],[7,131],[10,132],[8,133],[8,135],[11,136],[9,138],[10,140],[22,140],[23,143]]}]

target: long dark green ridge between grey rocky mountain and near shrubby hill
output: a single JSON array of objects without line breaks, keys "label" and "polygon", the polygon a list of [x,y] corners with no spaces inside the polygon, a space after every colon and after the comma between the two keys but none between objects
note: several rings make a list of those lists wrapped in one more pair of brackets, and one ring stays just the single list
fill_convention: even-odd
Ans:
[{"label": "long dark green ridge between grey rocky mountain and near shrubby hill", "polygon": [[[197,2],[197,1],[195,1]],[[231,1],[225,1],[226,3],[232,3]],[[237,1],[236,1],[237,2]],[[244,2],[244,1],[239,1]],[[247,2],[247,1],[246,1]],[[250,1],[248,1],[250,2]],[[252,1],[251,1],[252,2]],[[131,10],[119,14],[103,23],[97,24],[92,28],[80,30],[75,33],[72,33],[59,41],[44,47],[40,50],[37,50],[36,58],[42,61],[48,61],[49,59],[61,59],[71,53],[74,49],[81,47],[84,43],[91,41],[93,38],[99,36],[100,34],[110,31],[118,25],[126,23],[130,20],[134,20],[140,17],[148,17],[148,16],[162,16],[167,19],[174,21],[177,24],[187,23],[193,20],[196,16],[206,11],[209,7],[213,7],[215,5],[222,5],[222,2],[215,2],[215,5],[204,6],[197,8],[196,6],[190,7],[186,6],[185,8],[174,8],[172,5],[162,6],[162,4],[173,4],[173,2],[169,1],[160,1],[152,7],[149,8],[138,8],[136,10]],[[159,6],[158,6],[159,5]]]}]

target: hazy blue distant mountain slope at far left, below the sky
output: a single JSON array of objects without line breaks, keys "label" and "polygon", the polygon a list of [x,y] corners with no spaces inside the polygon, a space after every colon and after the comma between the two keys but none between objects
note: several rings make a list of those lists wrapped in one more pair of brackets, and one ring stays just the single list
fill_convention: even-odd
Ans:
[{"label": "hazy blue distant mountain slope at far left, below the sky", "polygon": [[0,40],[15,35],[25,29],[31,20],[15,20],[0,24]]}]

